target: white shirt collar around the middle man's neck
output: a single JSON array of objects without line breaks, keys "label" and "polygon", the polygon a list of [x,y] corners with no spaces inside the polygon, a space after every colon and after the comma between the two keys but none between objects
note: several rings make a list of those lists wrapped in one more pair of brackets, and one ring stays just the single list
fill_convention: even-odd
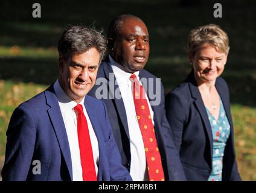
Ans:
[{"label": "white shirt collar around the middle man's neck", "polygon": [[[120,65],[119,63],[115,62],[115,60],[112,59],[111,55],[109,55],[109,61],[111,63],[112,69],[115,73],[115,77],[118,80],[121,80],[121,81],[129,80],[130,75],[132,75],[132,73],[124,71],[124,67],[122,65]],[[136,71],[133,74],[135,74],[137,79],[139,80],[139,71]]]}]

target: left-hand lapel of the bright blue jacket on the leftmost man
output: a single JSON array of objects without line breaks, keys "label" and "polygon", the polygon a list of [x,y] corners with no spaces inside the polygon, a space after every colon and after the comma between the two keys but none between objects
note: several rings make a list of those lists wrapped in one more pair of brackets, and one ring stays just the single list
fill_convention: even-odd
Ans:
[{"label": "left-hand lapel of the bright blue jacket on the leftmost man", "polygon": [[72,161],[71,154],[69,150],[68,136],[66,134],[65,124],[62,118],[62,113],[60,112],[59,103],[57,97],[54,93],[53,85],[45,90],[46,104],[50,106],[47,110],[51,123],[53,124],[54,131],[56,133],[60,150],[62,151],[66,165],[68,166],[69,176],[72,180]]}]

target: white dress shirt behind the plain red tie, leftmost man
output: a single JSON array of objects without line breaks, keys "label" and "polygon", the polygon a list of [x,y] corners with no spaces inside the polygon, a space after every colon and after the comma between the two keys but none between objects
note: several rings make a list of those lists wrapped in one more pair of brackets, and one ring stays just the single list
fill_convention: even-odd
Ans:
[{"label": "white dress shirt behind the plain red tie, leftmost man", "polygon": [[[78,143],[78,135],[77,135],[77,115],[74,111],[74,107],[77,106],[75,101],[72,101],[68,95],[63,91],[62,87],[60,87],[59,81],[53,85],[54,91],[57,96],[57,100],[59,102],[60,111],[62,113],[62,118],[66,128],[66,134],[68,136],[69,149],[71,153],[71,161],[72,161],[72,175],[73,181],[83,181],[83,171],[80,159],[80,149]],[[94,133],[94,128],[92,128],[91,121],[89,119],[88,113],[86,112],[84,105],[85,98],[79,103],[83,106],[83,113],[85,114],[89,134],[92,144],[92,152],[94,155],[94,165],[96,174],[98,174],[98,140]]]}]

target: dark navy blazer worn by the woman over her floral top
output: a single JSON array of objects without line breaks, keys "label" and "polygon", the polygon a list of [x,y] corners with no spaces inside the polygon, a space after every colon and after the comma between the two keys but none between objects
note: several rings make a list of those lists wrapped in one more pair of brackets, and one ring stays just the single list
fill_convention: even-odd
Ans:
[{"label": "dark navy blazer worn by the woman over her floral top", "polygon": [[[231,127],[224,151],[222,180],[241,180],[235,161],[228,85],[219,77],[215,86]],[[167,94],[165,110],[187,180],[208,180],[213,160],[213,134],[193,71],[184,83]]]}]

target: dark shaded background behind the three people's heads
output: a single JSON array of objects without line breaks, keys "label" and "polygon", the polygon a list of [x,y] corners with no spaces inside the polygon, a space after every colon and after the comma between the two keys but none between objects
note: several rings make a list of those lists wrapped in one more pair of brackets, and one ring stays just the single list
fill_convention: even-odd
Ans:
[{"label": "dark shaded background behind the three people's heads", "polygon": [[[32,17],[34,2],[41,5],[41,18]],[[216,2],[222,4],[222,18],[213,17]],[[109,22],[118,14],[141,17],[150,33],[151,51],[146,69],[162,78],[167,91],[190,71],[186,57],[189,31],[199,25],[220,25],[230,39],[223,77],[232,85],[232,102],[255,106],[255,1],[1,1],[0,7],[1,46],[52,48],[53,51],[68,24],[94,23],[98,30],[106,32]],[[0,58],[0,78],[51,84],[57,75],[56,59],[57,54],[56,57]]]}]

